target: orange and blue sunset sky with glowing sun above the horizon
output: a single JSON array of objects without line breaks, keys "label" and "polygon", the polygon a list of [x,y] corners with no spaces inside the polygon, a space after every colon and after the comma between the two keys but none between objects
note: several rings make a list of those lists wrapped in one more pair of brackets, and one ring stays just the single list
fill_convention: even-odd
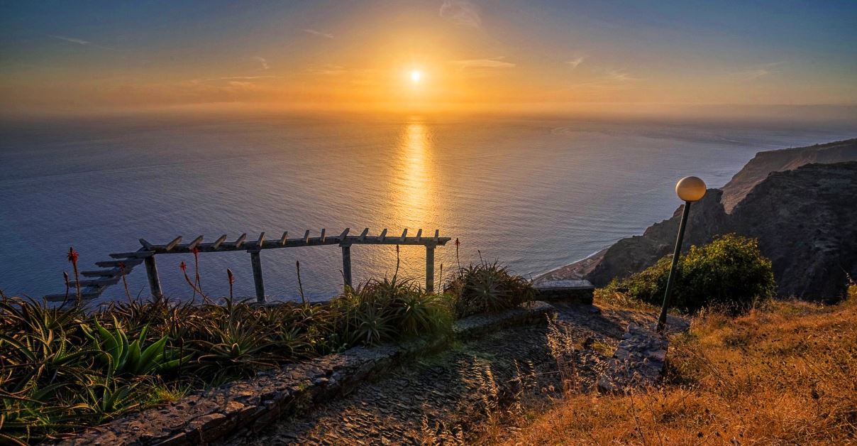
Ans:
[{"label": "orange and blue sunset sky with glowing sun above the horizon", "polygon": [[854,0],[2,2],[0,106],[854,107],[855,23]]}]

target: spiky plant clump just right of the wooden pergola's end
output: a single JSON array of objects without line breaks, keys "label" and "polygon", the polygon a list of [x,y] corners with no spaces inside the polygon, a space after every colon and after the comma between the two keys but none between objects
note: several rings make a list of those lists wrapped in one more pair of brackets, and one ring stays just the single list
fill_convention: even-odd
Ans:
[{"label": "spiky plant clump just right of the wooden pergola's end", "polygon": [[532,301],[536,294],[529,280],[510,273],[497,262],[459,268],[444,289],[454,298],[458,317],[512,308]]}]

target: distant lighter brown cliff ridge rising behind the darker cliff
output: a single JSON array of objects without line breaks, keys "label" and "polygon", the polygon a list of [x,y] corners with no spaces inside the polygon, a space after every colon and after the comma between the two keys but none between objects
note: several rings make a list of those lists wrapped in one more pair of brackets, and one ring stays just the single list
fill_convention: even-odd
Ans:
[{"label": "distant lighter brown cliff ridge rising behind the darker cliff", "polygon": [[811,163],[831,164],[845,161],[857,161],[857,139],[816,144],[806,148],[759,152],[723,186],[723,208],[731,213],[770,172],[790,171]]}]

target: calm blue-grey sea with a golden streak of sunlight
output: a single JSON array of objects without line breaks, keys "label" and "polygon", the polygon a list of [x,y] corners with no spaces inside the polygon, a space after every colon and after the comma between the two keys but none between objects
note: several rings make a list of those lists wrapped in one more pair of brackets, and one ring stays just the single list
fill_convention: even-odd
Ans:
[{"label": "calm blue-grey sea with a golden streak of sunlight", "polygon": [[[640,233],[680,205],[673,186],[697,175],[720,187],[758,151],[854,137],[857,124],[621,121],[579,118],[208,114],[3,121],[0,289],[63,292],[69,246],[81,269],[138,238],[213,241],[242,232],[302,237],[409,234],[460,238],[461,261],[499,259],[540,274]],[[402,248],[403,275],[423,282],[424,250]],[[266,250],[267,293],[297,298],[295,261],[314,300],[341,288],[335,246]],[[179,262],[159,256],[165,293],[189,298]],[[392,275],[393,246],[352,249],[355,280]],[[443,274],[454,245],[437,250]],[[249,255],[201,256],[202,287],[253,294]],[[435,267],[436,269],[439,267]],[[439,274],[436,271],[435,274]],[[129,275],[147,293],[145,272]],[[99,302],[125,298],[112,286]]]}]

